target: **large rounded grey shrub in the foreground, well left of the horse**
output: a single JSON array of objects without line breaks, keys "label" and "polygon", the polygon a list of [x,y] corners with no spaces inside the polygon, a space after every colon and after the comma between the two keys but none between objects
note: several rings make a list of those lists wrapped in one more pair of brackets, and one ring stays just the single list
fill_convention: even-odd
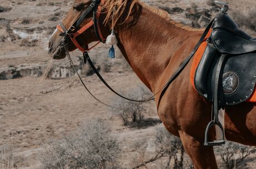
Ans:
[{"label": "large rounded grey shrub in the foreground, well left of the horse", "polygon": [[119,144],[110,135],[104,120],[90,122],[77,134],[50,142],[42,159],[42,168],[120,168]]}]

